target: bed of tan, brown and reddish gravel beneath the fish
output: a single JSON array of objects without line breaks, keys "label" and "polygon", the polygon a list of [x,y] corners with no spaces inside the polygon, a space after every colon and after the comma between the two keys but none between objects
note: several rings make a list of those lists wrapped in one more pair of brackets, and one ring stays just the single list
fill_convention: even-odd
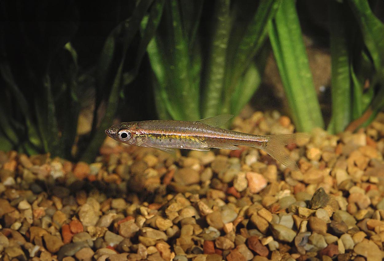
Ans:
[{"label": "bed of tan, brown and reddish gravel beneath the fish", "polygon": [[[243,114],[233,129],[294,129]],[[93,164],[0,152],[0,260],[381,261],[384,114],[288,149],[300,171],[250,147],[175,158],[110,138]]]}]

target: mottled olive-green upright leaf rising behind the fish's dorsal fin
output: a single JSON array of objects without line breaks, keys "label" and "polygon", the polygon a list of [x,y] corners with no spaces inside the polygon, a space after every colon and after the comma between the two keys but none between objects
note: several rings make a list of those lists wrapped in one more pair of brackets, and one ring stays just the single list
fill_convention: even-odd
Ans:
[{"label": "mottled olive-green upright leaf rising behind the fish's dorsal fin", "polygon": [[228,36],[230,32],[229,9],[229,0],[217,0],[215,2],[214,28],[212,30],[214,35],[210,46],[207,80],[201,106],[203,118],[219,114],[218,108],[222,100]]}]

